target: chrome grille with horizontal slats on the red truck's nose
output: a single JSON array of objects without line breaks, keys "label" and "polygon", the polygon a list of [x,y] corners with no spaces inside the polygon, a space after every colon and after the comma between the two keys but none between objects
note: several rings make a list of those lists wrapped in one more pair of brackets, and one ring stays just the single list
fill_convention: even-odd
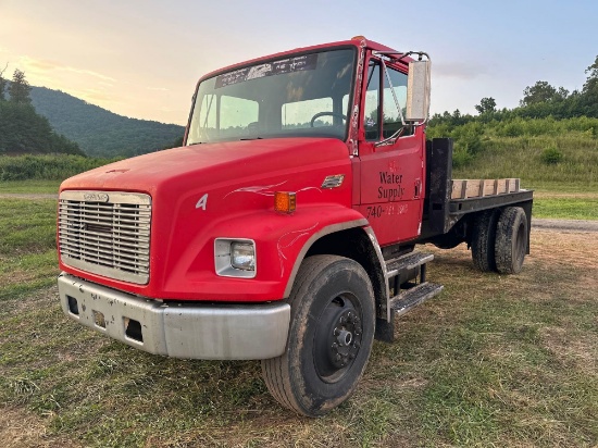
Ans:
[{"label": "chrome grille with horizontal slats on the red truck's nose", "polygon": [[64,264],[125,282],[148,283],[151,227],[148,195],[63,191],[58,221]]}]

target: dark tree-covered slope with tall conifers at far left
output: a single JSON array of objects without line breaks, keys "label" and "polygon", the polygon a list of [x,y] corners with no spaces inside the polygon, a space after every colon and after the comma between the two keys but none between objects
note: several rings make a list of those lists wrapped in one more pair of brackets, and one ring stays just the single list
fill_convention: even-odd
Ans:
[{"label": "dark tree-covered slope with tall conifers at far left", "polygon": [[16,69],[12,82],[0,71],[0,154],[68,153],[85,155],[79,146],[55,133],[32,105],[32,87]]}]

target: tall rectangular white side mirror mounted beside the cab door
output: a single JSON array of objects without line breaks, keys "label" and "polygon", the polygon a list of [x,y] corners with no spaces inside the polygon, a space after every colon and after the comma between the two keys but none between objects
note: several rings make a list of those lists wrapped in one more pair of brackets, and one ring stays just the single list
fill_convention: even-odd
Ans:
[{"label": "tall rectangular white side mirror mounted beside the cab door", "polygon": [[429,115],[431,62],[411,61],[407,80],[407,116],[410,122],[425,122]]}]

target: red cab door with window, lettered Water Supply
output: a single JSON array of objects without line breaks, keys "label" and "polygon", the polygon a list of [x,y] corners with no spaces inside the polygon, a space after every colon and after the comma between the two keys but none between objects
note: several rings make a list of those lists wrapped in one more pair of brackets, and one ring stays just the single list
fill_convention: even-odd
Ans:
[{"label": "red cab door with window, lettered Water Supply", "polygon": [[393,90],[400,108],[404,108],[408,78],[407,73],[388,63],[386,70],[388,76],[379,60],[371,58],[364,74],[360,200],[354,206],[370,222],[381,246],[420,235],[425,179],[422,126],[407,126],[399,138],[384,142],[402,127]]}]

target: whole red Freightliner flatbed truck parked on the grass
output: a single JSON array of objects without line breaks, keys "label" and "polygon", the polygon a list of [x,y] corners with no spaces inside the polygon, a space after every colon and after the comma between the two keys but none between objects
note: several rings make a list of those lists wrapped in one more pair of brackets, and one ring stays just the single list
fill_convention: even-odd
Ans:
[{"label": "whole red Freightliner flatbed truck parked on the grass", "polygon": [[150,353],[261,360],[281,405],[320,415],[354,390],[373,339],[440,293],[432,242],[518,273],[533,194],[452,181],[426,140],[429,60],[356,37],[219,70],[184,146],[60,188],[66,315]]}]

